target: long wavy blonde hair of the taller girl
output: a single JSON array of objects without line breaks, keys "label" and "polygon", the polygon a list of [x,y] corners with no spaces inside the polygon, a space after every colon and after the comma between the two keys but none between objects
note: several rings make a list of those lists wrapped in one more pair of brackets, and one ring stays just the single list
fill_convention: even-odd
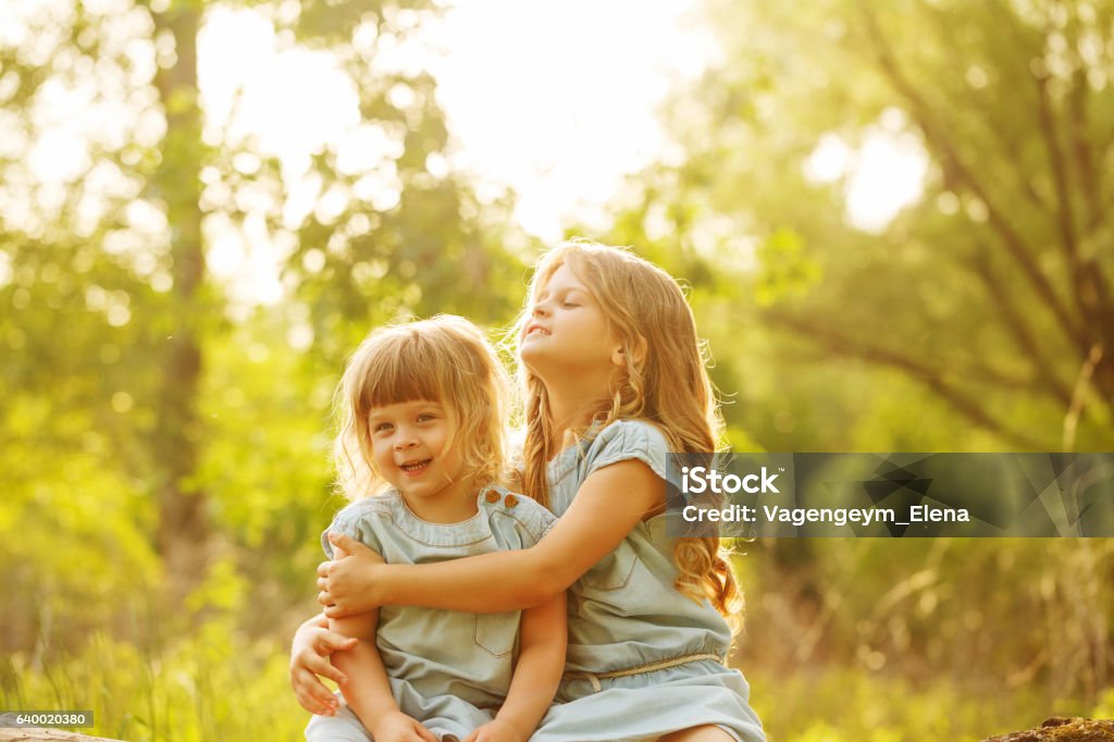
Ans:
[{"label": "long wavy blonde hair of the taller girl", "polygon": [[[599,302],[609,328],[623,340],[626,357],[625,370],[608,390],[609,399],[593,418],[593,430],[615,420],[643,419],[661,429],[673,451],[716,450],[723,421],[692,310],[668,273],[627,248],[573,241],[543,255],[515,338],[521,338],[534,300],[561,265],[568,265]],[[557,453],[560,441],[541,380],[521,363],[519,381],[526,408],[521,486],[549,507],[546,463]],[[742,594],[729,556],[719,537],[678,538],[673,557],[680,574],[674,585],[695,601],[709,598],[737,629]]]}]

